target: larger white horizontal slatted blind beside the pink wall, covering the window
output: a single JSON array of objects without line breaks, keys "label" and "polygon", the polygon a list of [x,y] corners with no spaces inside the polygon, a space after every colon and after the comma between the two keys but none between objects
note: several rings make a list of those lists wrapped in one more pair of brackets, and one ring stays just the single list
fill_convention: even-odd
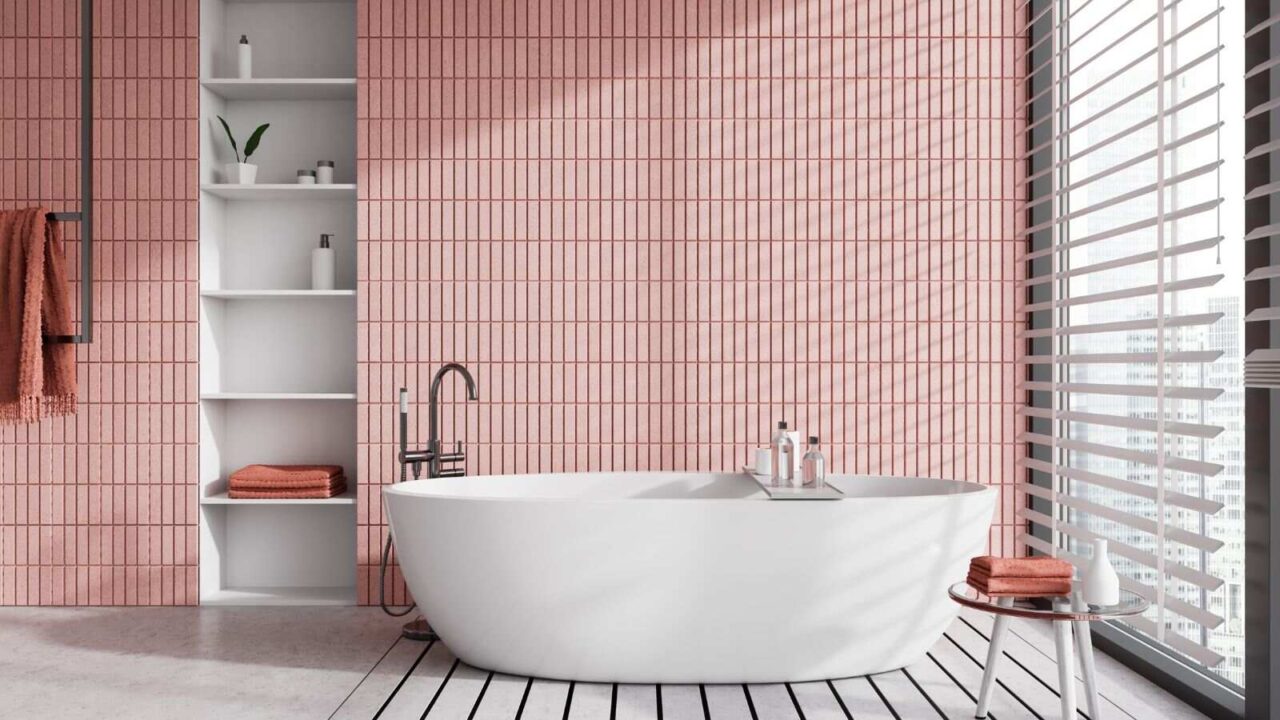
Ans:
[{"label": "larger white horizontal slatted blind beside the pink wall, covering the window", "polygon": [[1121,585],[1152,601],[1129,624],[1212,666],[1224,502],[1211,491],[1239,374],[1239,292],[1221,261],[1222,8],[1042,0],[1024,14],[1023,541],[1083,570],[1108,539]]}]

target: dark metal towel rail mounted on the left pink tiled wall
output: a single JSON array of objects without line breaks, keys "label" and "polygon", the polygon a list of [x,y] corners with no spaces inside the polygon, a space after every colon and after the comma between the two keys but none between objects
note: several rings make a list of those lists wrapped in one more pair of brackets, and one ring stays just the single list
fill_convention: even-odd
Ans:
[{"label": "dark metal towel rail mounted on the left pink tiled wall", "polygon": [[45,336],[46,342],[93,342],[93,0],[81,0],[81,210],[49,213],[81,224],[81,332]]}]

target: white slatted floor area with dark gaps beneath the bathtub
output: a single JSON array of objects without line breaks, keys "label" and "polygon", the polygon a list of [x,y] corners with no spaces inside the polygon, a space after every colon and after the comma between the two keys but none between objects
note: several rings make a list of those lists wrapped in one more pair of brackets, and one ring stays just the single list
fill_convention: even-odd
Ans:
[{"label": "white slatted floor area with dark gaps beneath the bathtub", "polygon": [[[1010,626],[991,717],[1059,715],[1052,641],[1032,623]],[[827,683],[625,685],[562,683],[477,670],[444,643],[396,641],[334,711],[334,719],[443,720],[932,720],[973,717],[991,619],[965,611],[909,667]],[[1098,653],[1106,717],[1203,717]],[[1076,689],[1083,697],[1083,689]],[[1088,717],[1083,711],[1082,717]]]}]

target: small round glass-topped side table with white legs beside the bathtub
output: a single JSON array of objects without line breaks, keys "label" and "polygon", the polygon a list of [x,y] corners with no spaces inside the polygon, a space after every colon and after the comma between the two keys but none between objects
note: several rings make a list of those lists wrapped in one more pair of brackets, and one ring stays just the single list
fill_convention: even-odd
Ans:
[{"label": "small round glass-topped side table with white legs beside the bathtub", "polygon": [[969,583],[951,585],[947,594],[965,607],[991,612],[996,616],[991,630],[991,647],[987,648],[987,666],[982,671],[982,691],[978,693],[975,717],[986,717],[991,705],[991,691],[996,685],[996,665],[1004,653],[1005,633],[1010,618],[1028,620],[1047,620],[1053,623],[1053,648],[1057,651],[1057,683],[1062,700],[1062,717],[1075,717],[1075,667],[1071,635],[1080,648],[1080,670],[1084,675],[1085,701],[1089,717],[1100,719],[1098,684],[1093,670],[1093,642],[1089,639],[1089,623],[1094,620],[1114,620],[1130,615],[1142,615],[1151,605],[1144,597],[1129,591],[1120,591],[1120,602],[1115,605],[1089,605],[1080,598],[1079,583],[1073,584],[1070,597],[1010,597],[989,596],[978,592]]}]

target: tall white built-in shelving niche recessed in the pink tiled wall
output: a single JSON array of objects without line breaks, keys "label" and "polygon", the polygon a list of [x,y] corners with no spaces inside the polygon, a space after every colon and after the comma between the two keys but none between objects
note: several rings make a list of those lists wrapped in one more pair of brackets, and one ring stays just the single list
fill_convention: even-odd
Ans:
[{"label": "tall white built-in shelving niche recessed in the pink tiled wall", "polygon": [[[252,79],[236,78],[241,35]],[[200,598],[356,602],[356,3],[201,0]],[[243,143],[270,123],[259,184],[228,184],[221,115]],[[296,184],[334,160],[335,184]],[[311,290],[333,236],[338,290]],[[251,462],[339,464],[324,500],[232,500]]]}]

